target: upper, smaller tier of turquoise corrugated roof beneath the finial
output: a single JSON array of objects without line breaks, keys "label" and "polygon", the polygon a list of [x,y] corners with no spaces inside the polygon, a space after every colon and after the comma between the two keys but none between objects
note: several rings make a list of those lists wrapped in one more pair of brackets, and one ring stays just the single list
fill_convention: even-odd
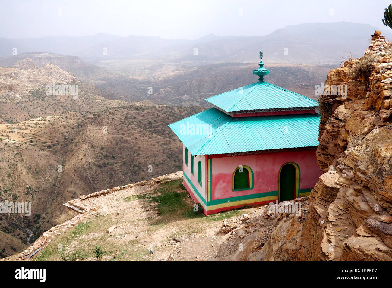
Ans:
[{"label": "upper, smaller tier of turquoise corrugated roof beneath the finial", "polygon": [[206,99],[226,112],[314,109],[316,100],[261,81]]}]

